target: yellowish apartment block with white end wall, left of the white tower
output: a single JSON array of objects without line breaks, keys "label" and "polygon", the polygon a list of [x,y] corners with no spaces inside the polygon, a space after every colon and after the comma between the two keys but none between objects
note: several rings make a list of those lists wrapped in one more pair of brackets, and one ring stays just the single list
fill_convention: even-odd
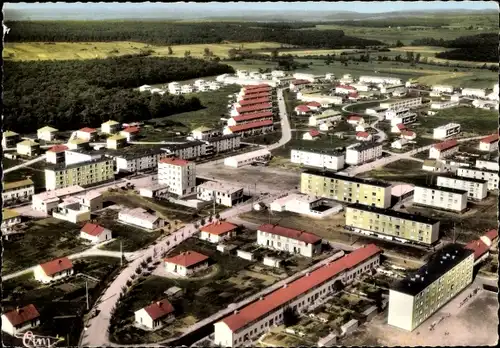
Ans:
[{"label": "yellowish apartment block with white end wall, left of the white tower", "polygon": [[47,190],[79,185],[89,186],[113,180],[114,160],[101,158],[95,161],[71,165],[56,164],[45,169],[45,187]]}]

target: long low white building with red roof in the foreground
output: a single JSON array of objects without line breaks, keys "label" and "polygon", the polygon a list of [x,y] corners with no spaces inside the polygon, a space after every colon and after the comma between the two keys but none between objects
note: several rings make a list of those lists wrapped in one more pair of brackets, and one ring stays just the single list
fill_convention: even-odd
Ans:
[{"label": "long low white building with red roof in the foreground", "polygon": [[306,313],[316,301],[328,299],[334,284],[351,284],[356,277],[376,269],[381,250],[374,244],[322,266],[285,284],[259,301],[253,302],[214,324],[214,342],[222,347],[254,346],[254,340],[283,322],[285,308]]}]

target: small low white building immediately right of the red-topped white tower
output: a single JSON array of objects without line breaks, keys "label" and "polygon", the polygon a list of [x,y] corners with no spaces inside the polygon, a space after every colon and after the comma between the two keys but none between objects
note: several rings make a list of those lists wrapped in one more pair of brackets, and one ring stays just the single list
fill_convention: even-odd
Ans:
[{"label": "small low white building immediately right of the red-topped white tower", "polygon": [[216,181],[206,181],[196,187],[196,197],[202,201],[232,207],[243,200],[243,187]]}]

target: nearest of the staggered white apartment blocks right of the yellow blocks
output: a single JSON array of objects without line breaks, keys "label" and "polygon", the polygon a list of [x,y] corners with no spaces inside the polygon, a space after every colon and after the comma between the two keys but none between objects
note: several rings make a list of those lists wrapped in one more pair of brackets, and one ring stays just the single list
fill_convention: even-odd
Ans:
[{"label": "nearest of the staggered white apartment blocks right of the yellow blocks", "polygon": [[461,213],[467,208],[466,190],[418,185],[414,187],[413,203]]}]

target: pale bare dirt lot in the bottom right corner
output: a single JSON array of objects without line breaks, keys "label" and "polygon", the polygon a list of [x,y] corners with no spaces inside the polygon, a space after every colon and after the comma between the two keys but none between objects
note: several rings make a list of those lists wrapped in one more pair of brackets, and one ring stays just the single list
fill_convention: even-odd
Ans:
[{"label": "pale bare dirt lot in the bottom right corner", "polygon": [[[486,346],[498,341],[497,294],[480,291],[462,308],[463,298],[478,286],[473,283],[462,293],[442,307],[413,332],[387,325],[387,312],[375,317],[359,328],[352,336],[342,340],[343,346]],[[429,326],[447,316],[435,326]],[[448,333],[448,334],[446,334]]]}]

